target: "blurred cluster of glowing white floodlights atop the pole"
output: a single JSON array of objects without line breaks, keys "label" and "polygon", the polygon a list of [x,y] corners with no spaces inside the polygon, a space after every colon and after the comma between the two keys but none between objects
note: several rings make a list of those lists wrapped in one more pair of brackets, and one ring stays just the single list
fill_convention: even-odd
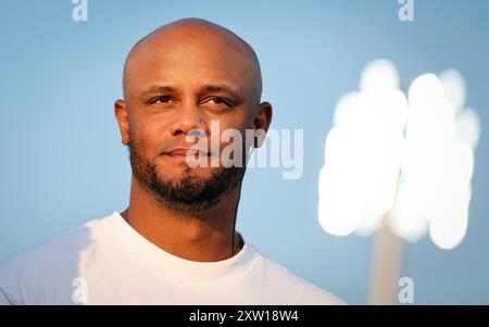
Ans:
[{"label": "blurred cluster of glowing white floodlights atop the pole", "polygon": [[396,66],[365,66],[360,89],[335,109],[319,174],[318,219],[329,234],[369,235],[387,225],[414,242],[429,231],[434,243],[453,249],[468,224],[474,149],[480,122],[462,75],[413,80],[409,101]]}]

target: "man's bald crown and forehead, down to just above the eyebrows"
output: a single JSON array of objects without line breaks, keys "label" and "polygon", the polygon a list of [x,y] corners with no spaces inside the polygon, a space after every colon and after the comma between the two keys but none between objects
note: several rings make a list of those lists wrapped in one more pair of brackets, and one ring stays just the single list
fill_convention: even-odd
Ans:
[{"label": "man's bald crown and forehead, down to just above the eyebrows", "polygon": [[206,75],[210,80],[203,83],[236,79],[237,84],[252,84],[249,86],[261,92],[260,66],[251,47],[224,27],[187,21],[156,29],[133,48],[124,68],[125,92],[141,79],[185,81],[192,72],[200,77]]}]

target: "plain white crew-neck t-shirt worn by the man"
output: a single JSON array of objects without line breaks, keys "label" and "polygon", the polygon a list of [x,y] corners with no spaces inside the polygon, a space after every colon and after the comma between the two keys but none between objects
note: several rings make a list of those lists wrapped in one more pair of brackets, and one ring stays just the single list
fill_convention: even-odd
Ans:
[{"label": "plain white crew-neck t-shirt worn by the man", "polygon": [[138,234],[117,213],[0,262],[0,304],[343,304],[244,241],[195,262]]}]

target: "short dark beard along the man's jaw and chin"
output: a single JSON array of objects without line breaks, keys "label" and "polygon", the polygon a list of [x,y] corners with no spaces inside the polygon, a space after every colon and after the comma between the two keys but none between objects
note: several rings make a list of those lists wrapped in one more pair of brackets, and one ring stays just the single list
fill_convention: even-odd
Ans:
[{"label": "short dark beard along the man's jaw and chin", "polygon": [[148,160],[138,143],[129,138],[130,165],[138,183],[164,206],[198,212],[220,202],[243,178],[244,167],[215,167],[209,178],[197,176],[186,167],[181,178],[168,180],[158,174],[156,165]]}]

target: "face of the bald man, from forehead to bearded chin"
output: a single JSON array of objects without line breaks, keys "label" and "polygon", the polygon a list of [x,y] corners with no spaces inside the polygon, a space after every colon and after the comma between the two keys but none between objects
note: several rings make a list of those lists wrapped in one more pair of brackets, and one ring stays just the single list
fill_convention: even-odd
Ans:
[{"label": "face of the bald man, from forehead to bearded chin", "polygon": [[[239,48],[212,38],[166,37],[158,42],[147,40],[127,66],[126,143],[133,174],[165,205],[209,209],[244,174],[243,167],[210,162],[228,144],[221,141],[223,130],[237,129],[244,141],[244,129],[254,128],[259,103],[251,63]],[[218,122],[220,131],[211,129],[212,121]],[[209,164],[190,168],[185,149],[195,143],[186,138],[196,129],[208,136],[201,138],[208,147],[200,150]],[[211,149],[212,142],[218,147]]]}]

